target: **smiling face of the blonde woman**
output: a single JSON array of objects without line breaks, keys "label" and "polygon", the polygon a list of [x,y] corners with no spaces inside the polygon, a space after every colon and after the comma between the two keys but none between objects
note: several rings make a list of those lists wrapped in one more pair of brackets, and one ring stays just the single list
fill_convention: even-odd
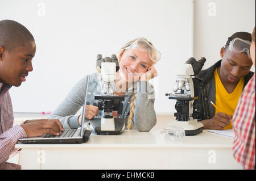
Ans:
[{"label": "smiling face of the blonde woman", "polygon": [[152,65],[148,52],[139,48],[124,50],[119,60],[119,72],[127,82],[138,81],[139,75],[145,73]]}]

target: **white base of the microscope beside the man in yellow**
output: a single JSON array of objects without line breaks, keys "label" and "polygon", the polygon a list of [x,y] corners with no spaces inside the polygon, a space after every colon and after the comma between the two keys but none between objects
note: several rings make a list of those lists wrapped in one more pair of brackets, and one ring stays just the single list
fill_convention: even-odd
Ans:
[{"label": "white base of the microscope beside the man in yellow", "polygon": [[175,125],[176,127],[181,127],[185,130],[185,136],[193,136],[198,133],[201,133],[204,129],[204,125],[197,120],[189,120],[189,121],[171,121],[171,125]]}]

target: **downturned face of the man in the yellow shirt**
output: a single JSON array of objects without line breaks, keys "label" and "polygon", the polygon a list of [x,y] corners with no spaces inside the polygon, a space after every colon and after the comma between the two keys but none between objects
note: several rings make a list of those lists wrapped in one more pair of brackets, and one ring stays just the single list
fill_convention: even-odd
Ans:
[{"label": "downturned face of the man in the yellow shirt", "polygon": [[220,78],[225,83],[238,83],[251,69],[253,62],[245,53],[235,53],[222,47]]}]

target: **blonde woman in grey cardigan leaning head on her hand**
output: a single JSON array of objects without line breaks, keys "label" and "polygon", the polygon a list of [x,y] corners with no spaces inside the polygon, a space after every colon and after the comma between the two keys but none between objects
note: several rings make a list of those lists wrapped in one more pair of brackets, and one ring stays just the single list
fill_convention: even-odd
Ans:
[{"label": "blonde woman in grey cardigan leaning head on her hand", "polygon": [[[125,129],[150,131],[156,124],[154,110],[154,87],[147,81],[157,76],[154,64],[160,60],[160,52],[146,39],[138,38],[125,44],[117,53],[119,71],[116,74],[115,92],[126,95],[123,102],[123,117],[126,119]],[[100,73],[90,75],[88,92],[101,93],[98,81]],[[63,128],[78,128],[81,115],[76,113],[83,106],[86,77],[73,87],[68,96],[56,108],[48,119],[59,119]],[[90,105],[86,106],[85,117],[90,120],[99,116],[101,111],[92,106],[94,97],[87,98]],[[119,115],[121,116],[121,115]]]}]

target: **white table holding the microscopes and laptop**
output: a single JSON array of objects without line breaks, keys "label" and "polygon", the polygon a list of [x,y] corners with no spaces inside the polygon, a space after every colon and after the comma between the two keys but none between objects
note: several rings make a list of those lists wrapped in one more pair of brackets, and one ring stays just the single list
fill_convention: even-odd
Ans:
[{"label": "white table holding the microscopes and laptop", "polygon": [[232,154],[233,138],[203,131],[174,144],[160,134],[92,133],[88,142],[68,145],[16,144],[22,169],[242,169]]}]

